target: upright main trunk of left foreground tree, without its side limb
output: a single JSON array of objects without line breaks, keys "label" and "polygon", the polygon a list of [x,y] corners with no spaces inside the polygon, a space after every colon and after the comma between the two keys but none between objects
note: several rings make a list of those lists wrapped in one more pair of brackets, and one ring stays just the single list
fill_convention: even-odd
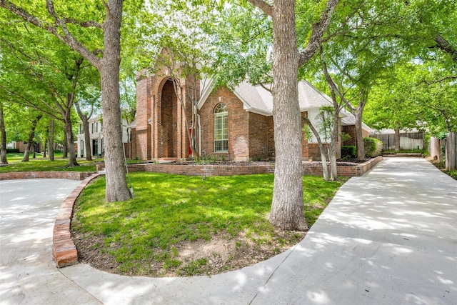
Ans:
[{"label": "upright main trunk of left foreground tree, without its side limb", "polygon": [[122,143],[121,104],[119,96],[119,64],[121,63],[122,0],[109,1],[104,23],[104,57],[101,59],[101,109],[103,111],[106,201],[131,198],[126,183],[124,144]]}]

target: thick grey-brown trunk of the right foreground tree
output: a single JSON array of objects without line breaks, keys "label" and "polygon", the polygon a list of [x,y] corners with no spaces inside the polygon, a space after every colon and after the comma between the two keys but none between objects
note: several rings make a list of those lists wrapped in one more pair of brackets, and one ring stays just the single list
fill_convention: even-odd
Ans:
[{"label": "thick grey-brown trunk of the right foreground tree", "polygon": [[270,222],[280,229],[305,230],[295,1],[275,1],[272,17],[276,169]]}]

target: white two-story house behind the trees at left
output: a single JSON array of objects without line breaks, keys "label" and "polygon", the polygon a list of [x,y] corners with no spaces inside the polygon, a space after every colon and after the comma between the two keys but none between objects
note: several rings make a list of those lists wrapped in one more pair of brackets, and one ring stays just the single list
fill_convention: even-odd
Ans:
[{"label": "white two-story house behind the trees at left", "polygon": [[[122,141],[126,143],[129,138],[127,134],[125,119],[122,120]],[[92,156],[101,156],[105,153],[104,136],[101,116],[94,116],[89,119],[89,134]],[[86,140],[84,139],[84,128],[82,122],[79,122],[78,134],[76,135],[77,157],[82,158],[86,154]]]}]

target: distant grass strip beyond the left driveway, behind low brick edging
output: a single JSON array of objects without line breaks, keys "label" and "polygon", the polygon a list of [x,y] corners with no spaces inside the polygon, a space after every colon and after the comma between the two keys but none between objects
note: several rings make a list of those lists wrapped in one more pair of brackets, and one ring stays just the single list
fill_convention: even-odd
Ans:
[{"label": "distant grass strip beyond the left driveway, behind low brick edging", "polygon": [[62,159],[62,154],[55,154],[54,161],[49,161],[49,158],[43,158],[40,154],[33,159],[29,158],[29,162],[21,162],[24,154],[7,154],[7,166],[0,166],[0,173],[11,171],[96,171],[96,161],[102,159],[94,159],[94,161],[78,160],[80,166],[66,168],[68,159]]}]

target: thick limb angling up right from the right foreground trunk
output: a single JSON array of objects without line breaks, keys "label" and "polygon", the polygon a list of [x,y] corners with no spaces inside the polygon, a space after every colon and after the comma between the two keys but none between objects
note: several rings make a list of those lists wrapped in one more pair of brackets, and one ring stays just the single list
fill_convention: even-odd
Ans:
[{"label": "thick limb angling up right from the right foreground trunk", "polygon": [[321,14],[321,19],[313,24],[311,37],[308,41],[308,44],[306,45],[306,48],[300,52],[298,68],[309,61],[311,57],[313,57],[313,55],[316,53],[319,46],[321,46],[323,33],[326,31],[328,24],[330,24],[331,16],[337,5],[338,0],[328,0],[326,9]]}]

